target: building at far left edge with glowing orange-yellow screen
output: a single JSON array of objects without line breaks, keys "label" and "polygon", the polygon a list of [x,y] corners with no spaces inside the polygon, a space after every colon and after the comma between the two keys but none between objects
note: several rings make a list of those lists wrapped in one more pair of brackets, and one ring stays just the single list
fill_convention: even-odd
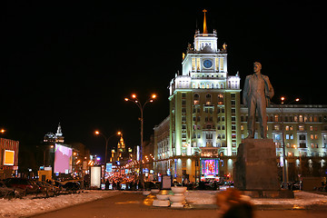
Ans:
[{"label": "building at far left edge with glowing orange-yellow screen", "polygon": [[18,170],[19,142],[0,138],[0,179],[12,177]]}]

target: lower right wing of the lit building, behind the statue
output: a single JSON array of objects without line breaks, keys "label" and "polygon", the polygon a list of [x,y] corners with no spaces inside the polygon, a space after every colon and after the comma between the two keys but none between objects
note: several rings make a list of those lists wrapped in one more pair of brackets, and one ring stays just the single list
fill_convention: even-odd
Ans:
[{"label": "lower right wing of the lit building, behind the statue", "polygon": [[[284,135],[287,181],[297,181],[299,175],[326,176],[327,105],[272,104],[267,107],[267,121],[267,136],[276,146],[279,165]],[[241,107],[240,125],[243,139],[247,136],[245,107]],[[254,137],[258,138],[258,133]]]}]

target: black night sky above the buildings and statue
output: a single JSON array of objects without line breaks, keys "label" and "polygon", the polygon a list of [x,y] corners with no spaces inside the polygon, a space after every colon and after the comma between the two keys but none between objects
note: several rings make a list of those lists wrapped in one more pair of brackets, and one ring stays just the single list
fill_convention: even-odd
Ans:
[{"label": "black night sky above the buildings and statue", "polygon": [[243,84],[259,61],[274,102],[286,94],[302,104],[327,104],[322,5],[140,2],[8,0],[1,9],[5,137],[33,147],[60,122],[67,143],[81,142],[94,154],[104,151],[95,129],[123,131],[133,147],[140,141],[139,109],[124,97],[134,92],[142,101],[158,95],[144,110],[148,139],[169,114],[167,86],[181,71],[195,29],[203,31],[203,8],[219,47],[228,45],[229,74],[239,71]]}]

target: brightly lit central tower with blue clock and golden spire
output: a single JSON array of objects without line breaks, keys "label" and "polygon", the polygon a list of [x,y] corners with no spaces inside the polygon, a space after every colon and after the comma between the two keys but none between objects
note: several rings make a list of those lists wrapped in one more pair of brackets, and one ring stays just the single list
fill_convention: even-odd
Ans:
[{"label": "brightly lit central tower with blue clock and golden spire", "polygon": [[228,74],[227,45],[218,49],[217,31],[208,33],[203,12],[203,33],[195,31],[193,46],[183,54],[183,72],[170,83],[171,147],[164,159],[179,182],[232,173],[241,143],[240,77]]}]

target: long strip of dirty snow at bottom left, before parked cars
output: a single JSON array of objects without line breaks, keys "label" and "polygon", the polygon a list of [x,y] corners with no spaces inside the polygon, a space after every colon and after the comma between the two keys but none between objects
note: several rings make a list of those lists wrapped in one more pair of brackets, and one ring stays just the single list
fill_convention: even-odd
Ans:
[{"label": "long strip of dirty snow at bottom left, before parked cars", "polygon": [[27,195],[27,197],[23,199],[0,199],[0,217],[21,217],[55,211],[71,205],[92,202],[104,197],[114,196],[119,193],[119,191],[106,192],[87,190],[84,193],[63,194],[50,198],[33,199]]}]

